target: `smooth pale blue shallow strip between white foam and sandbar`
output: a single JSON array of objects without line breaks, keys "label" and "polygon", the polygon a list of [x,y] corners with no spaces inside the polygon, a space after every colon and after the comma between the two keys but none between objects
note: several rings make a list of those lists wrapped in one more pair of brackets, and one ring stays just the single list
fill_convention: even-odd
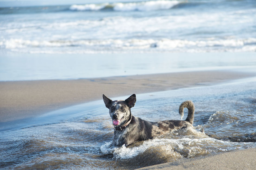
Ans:
[{"label": "smooth pale blue shallow strip between white foam and sandbar", "polygon": [[88,79],[205,70],[255,72],[255,56],[254,52],[4,54],[0,57],[0,81]]}]

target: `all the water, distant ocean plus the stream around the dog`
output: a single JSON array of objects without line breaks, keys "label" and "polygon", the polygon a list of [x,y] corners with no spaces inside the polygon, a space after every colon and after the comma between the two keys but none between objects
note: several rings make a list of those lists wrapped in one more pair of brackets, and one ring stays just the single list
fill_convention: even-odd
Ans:
[{"label": "all the water, distant ocean plus the stream around the dog", "polygon": [[[0,81],[256,73],[255,0],[1,3]],[[137,94],[132,114],[148,121],[180,120],[180,103],[192,100],[195,129],[129,147],[110,145],[113,125],[102,100],[1,123],[0,168],[136,169],[256,147],[255,87],[251,77]]]}]

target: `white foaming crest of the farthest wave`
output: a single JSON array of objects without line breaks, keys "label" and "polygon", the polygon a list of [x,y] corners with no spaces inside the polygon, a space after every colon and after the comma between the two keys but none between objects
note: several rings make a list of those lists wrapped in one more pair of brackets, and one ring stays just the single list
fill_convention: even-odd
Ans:
[{"label": "white foaming crest of the farthest wave", "polygon": [[158,1],[144,1],[144,2],[129,2],[129,3],[104,3],[104,4],[85,4],[85,5],[71,5],[72,11],[99,11],[102,9],[112,9],[114,11],[156,11],[167,10],[182,3],[176,0],[158,0]]}]

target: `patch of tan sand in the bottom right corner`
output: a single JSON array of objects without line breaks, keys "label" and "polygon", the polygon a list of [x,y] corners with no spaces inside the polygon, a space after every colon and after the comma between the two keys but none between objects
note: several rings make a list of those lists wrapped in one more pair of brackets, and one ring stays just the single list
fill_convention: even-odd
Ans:
[{"label": "patch of tan sand in the bottom right corner", "polygon": [[140,169],[256,169],[256,148],[249,148],[238,151],[224,152],[221,154],[206,157],[191,158],[178,162],[171,162],[159,165],[148,166]]}]

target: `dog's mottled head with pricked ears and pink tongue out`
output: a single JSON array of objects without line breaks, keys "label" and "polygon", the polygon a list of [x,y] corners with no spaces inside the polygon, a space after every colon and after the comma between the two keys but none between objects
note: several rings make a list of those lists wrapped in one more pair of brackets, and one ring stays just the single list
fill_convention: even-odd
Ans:
[{"label": "dog's mottled head with pricked ears and pink tongue out", "polygon": [[135,105],[136,95],[133,94],[126,100],[112,101],[103,94],[103,101],[109,109],[109,115],[113,120],[113,124],[121,127],[131,117],[131,108]]}]

